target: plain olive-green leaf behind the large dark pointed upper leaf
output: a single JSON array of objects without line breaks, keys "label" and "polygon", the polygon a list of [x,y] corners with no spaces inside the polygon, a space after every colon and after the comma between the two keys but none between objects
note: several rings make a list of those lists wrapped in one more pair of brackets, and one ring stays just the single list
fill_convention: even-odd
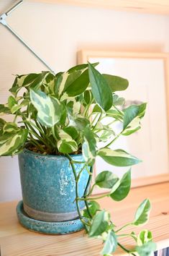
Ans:
[{"label": "plain olive-green leaf behind the large dark pointed upper leaf", "polygon": [[126,90],[129,86],[128,80],[122,77],[117,77],[111,74],[103,74],[103,76],[106,82],[109,84],[112,92],[115,92],[117,90]]}]

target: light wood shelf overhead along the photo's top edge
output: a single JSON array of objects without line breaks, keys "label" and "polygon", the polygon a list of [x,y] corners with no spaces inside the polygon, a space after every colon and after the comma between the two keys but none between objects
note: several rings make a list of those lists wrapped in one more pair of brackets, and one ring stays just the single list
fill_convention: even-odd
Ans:
[{"label": "light wood shelf overhead along the photo's top edge", "polygon": [[71,4],[81,7],[101,7],[118,11],[169,14],[168,0],[27,0],[44,3]]}]

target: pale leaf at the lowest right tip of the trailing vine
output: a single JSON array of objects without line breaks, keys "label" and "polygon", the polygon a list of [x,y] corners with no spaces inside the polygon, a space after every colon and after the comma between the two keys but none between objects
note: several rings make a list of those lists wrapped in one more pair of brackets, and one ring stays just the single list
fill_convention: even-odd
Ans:
[{"label": "pale leaf at the lowest right tip of the trailing vine", "polygon": [[136,251],[140,256],[154,256],[155,250],[156,244],[154,242],[147,242],[140,247],[136,247]]}]

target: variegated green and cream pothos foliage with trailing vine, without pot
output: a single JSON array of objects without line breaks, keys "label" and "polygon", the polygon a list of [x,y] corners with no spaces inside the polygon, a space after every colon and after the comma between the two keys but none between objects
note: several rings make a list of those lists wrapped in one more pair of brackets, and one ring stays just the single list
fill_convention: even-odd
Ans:
[{"label": "variegated green and cream pothos foliage with trailing vine, without pot", "polygon": [[[124,98],[116,91],[125,90],[128,81],[122,77],[101,74],[96,64],[81,64],[67,72],[53,74],[17,75],[8,103],[0,105],[0,114],[14,116],[12,122],[0,119],[0,155],[16,155],[28,148],[41,154],[65,155],[72,167],[76,182],[76,207],[78,215],[90,237],[102,239],[101,255],[111,255],[121,247],[131,255],[153,255],[155,244],[152,234],[142,230],[140,234],[127,234],[125,227],[139,226],[147,222],[150,201],[145,199],[137,208],[134,219],[117,229],[109,212],[101,210],[99,200],[109,197],[121,201],[127,197],[131,185],[131,171],[121,179],[104,170],[96,176],[91,187],[93,164],[96,157],[112,166],[133,166],[140,160],[122,149],[111,149],[119,136],[128,136],[140,129],[140,119],[145,114],[146,103],[124,108]],[[105,124],[104,120],[109,120]],[[107,123],[107,122],[106,122]],[[117,123],[120,130],[117,132]],[[102,143],[101,143],[102,142]],[[103,146],[104,145],[104,146]],[[83,168],[76,173],[71,154],[83,154]],[[78,195],[78,180],[88,170],[89,179],[83,197]],[[109,189],[100,196],[91,196],[95,187]],[[86,203],[81,211],[79,201]],[[134,239],[134,249],[127,249],[119,237]]]}]

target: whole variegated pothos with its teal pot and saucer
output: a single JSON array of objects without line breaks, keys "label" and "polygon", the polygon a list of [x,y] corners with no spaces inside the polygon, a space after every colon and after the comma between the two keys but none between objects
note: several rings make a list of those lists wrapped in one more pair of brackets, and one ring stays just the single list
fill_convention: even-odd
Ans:
[{"label": "whole variegated pothos with its teal pot and saucer", "polygon": [[[88,236],[103,239],[102,255],[111,255],[117,246],[131,255],[152,255],[155,244],[150,231],[124,234],[136,242],[133,250],[118,242],[119,232],[126,226],[147,222],[148,199],[137,208],[134,220],[120,229],[96,201],[127,197],[130,166],[140,160],[110,146],[120,135],[140,129],[146,108],[146,103],[123,108],[124,98],[115,92],[127,89],[128,81],[99,73],[97,64],[81,64],[58,74],[17,75],[8,103],[0,105],[1,115],[14,116],[12,122],[0,119],[0,155],[19,155],[23,203],[17,206],[18,218],[27,229],[46,234],[65,234],[84,227]],[[107,117],[111,124],[103,123]],[[118,134],[114,132],[117,122],[122,127]],[[129,170],[121,179],[103,170],[91,186],[97,156]],[[109,192],[91,197],[95,187]]]}]

